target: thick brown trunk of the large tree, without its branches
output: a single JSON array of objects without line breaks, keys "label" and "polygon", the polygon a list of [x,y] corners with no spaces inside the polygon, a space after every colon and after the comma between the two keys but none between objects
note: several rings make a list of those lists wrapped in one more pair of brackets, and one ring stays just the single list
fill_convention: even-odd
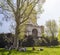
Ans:
[{"label": "thick brown trunk of the large tree, without its branches", "polygon": [[19,16],[16,16],[16,29],[15,29],[15,37],[14,37],[14,48],[18,49],[19,48],[19,34],[20,34],[20,20],[19,20]]}]

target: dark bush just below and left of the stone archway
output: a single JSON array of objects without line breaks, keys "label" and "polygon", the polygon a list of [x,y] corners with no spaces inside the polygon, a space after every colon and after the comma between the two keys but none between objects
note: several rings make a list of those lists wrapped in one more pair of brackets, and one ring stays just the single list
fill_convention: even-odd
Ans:
[{"label": "dark bush just below and left of the stone archway", "polygon": [[34,39],[32,35],[29,35],[25,41],[23,41],[22,46],[31,47],[34,46]]}]

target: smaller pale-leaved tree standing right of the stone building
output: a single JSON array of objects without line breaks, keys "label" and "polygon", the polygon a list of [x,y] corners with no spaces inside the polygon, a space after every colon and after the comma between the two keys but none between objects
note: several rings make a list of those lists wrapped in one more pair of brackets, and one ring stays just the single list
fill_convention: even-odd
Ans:
[{"label": "smaller pale-leaved tree standing right of the stone building", "polygon": [[49,20],[46,22],[47,33],[52,36],[52,38],[57,35],[57,28],[58,27],[55,20]]}]

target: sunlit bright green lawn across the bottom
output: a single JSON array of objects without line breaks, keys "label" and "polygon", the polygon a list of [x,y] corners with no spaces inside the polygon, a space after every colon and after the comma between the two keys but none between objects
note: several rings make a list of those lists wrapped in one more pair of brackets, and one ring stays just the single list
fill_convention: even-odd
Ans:
[{"label": "sunlit bright green lawn across the bottom", "polygon": [[20,52],[16,50],[7,51],[0,49],[0,55],[60,55],[60,47],[44,47],[43,51],[38,51],[39,47],[36,47],[35,51],[32,48],[27,48],[26,52]]}]

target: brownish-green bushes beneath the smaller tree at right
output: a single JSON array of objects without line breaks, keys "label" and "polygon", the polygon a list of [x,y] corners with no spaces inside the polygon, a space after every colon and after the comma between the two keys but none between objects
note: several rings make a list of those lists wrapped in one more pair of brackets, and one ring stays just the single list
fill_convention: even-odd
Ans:
[{"label": "brownish-green bushes beneath the smaller tree at right", "polygon": [[38,46],[57,46],[59,45],[58,38],[55,37],[52,39],[52,37],[42,37],[40,40],[37,40]]}]

